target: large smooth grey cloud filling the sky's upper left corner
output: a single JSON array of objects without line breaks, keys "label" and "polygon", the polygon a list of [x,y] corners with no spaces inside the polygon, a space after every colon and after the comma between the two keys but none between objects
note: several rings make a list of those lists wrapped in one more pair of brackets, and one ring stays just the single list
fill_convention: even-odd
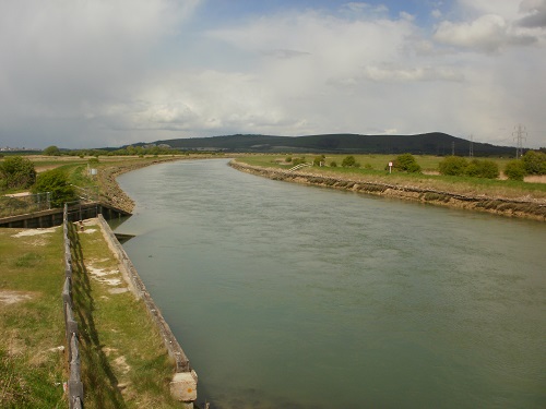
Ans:
[{"label": "large smooth grey cloud filling the sky's upper left corner", "polygon": [[63,127],[96,121],[140,85],[153,70],[154,47],[197,5],[193,0],[2,2],[0,134],[14,132],[3,128],[16,121],[47,122],[44,137],[54,121]]}]

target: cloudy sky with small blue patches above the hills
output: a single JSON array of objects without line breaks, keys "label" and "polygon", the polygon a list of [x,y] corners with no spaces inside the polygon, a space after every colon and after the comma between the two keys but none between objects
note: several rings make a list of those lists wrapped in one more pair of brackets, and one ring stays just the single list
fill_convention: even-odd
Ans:
[{"label": "cloudy sky with small blue patches above the hills", "polygon": [[546,146],[546,0],[0,0],[0,147],[518,125]]}]

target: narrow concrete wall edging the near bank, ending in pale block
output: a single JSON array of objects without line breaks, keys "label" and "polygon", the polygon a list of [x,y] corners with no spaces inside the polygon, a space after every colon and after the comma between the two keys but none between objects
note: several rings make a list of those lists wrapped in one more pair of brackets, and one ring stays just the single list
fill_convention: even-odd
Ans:
[{"label": "narrow concrete wall edging the near bank, ending in pale block", "polygon": [[114,234],[114,231],[111,231],[110,226],[108,226],[102,215],[98,215],[98,220],[102,226],[103,236],[108,246],[118,258],[121,274],[128,282],[130,290],[136,298],[144,301],[150,316],[159,329],[169,356],[175,361],[175,375],[170,383],[170,392],[175,398],[186,404],[186,408],[192,408],[193,401],[197,399],[198,376],[195,371],[192,370],[188,357],[180,347],[180,344],[178,344],[178,340],[170,330],[169,325],[163,317],[154,300],[147,292],[136,268],[134,268],[129,260],[126,251]]}]

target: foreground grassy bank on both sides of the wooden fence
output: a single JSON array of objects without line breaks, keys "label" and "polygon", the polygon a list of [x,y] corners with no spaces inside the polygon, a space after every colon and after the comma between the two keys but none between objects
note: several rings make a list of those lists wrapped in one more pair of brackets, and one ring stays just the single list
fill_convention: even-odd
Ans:
[{"label": "foreground grassy bank on both sides of the wooden fence", "polygon": [[[86,408],[175,408],[173,363],[98,226],[72,231]],[[0,229],[0,407],[66,408],[61,228]]]}]

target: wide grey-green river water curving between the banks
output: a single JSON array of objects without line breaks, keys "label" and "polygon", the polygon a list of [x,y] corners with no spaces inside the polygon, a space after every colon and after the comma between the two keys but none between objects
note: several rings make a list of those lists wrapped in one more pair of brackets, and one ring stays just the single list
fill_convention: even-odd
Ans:
[{"label": "wide grey-green river water curving between the banks", "polygon": [[273,181],[119,178],[118,232],[211,408],[546,407],[546,225]]}]

